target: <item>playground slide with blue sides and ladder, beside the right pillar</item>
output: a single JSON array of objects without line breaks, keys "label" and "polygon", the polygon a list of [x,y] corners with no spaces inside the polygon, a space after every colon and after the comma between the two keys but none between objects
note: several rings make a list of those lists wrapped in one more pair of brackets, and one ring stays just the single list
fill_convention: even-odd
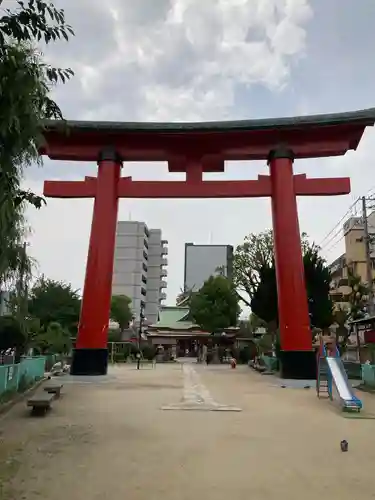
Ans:
[{"label": "playground slide with blue sides and ladder, beside the right pillar", "polygon": [[339,350],[332,339],[329,340],[330,349],[327,350],[326,342],[321,337],[316,379],[317,395],[326,396],[332,401],[333,386],[335,386],[343,411],[359,412],[362,401],[354,395]]}]

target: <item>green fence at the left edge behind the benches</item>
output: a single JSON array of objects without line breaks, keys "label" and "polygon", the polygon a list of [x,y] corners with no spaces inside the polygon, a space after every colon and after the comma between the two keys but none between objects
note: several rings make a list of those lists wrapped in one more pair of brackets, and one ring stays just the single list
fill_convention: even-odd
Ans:
[{"label": "green fence at the left edge behind the benches", "polygon": [[25,357],[20,363],[0,365],[0,397],[5,392],[18,391],[20,385],[31,385],[44,376],[44,356]]}]

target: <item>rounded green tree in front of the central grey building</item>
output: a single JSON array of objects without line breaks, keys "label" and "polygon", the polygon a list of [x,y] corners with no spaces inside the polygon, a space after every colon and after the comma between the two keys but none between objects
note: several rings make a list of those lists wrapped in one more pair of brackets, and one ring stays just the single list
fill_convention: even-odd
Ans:
[{"label": "rounded green tree in front of the central grey building", "polygon": [[193,320],[213,334],[236,326],[240,311],[235,287],[224,276],[211,276],[190,302]]}]

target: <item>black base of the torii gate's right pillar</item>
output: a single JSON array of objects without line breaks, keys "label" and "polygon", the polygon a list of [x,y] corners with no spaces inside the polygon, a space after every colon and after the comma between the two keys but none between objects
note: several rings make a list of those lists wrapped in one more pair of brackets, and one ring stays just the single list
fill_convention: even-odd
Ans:
[{"label": "black base of the torii gate's right pillar", "polygon": [[315,351],[281,351],[280,376],[295,380],[316,379]]}]

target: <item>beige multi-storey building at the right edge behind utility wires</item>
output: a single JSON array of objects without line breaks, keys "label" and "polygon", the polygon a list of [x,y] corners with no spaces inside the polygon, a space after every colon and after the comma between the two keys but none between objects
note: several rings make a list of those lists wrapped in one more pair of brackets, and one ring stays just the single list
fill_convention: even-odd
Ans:
[{"label": "beige multi-storey building at the right edge behind utility wires", "polygon": [[[372,274],[375,278],[375,212],[368,217],[369,234],[374,236],[371,243]],[[367,283],[366,245],[364,240],[364,225],[361,217],[351,217],[343,225],[345,238],[345,253],[334,260],[329,268],[331,272],[331,298],[337,307],[348,308],[348,270]]]}]

